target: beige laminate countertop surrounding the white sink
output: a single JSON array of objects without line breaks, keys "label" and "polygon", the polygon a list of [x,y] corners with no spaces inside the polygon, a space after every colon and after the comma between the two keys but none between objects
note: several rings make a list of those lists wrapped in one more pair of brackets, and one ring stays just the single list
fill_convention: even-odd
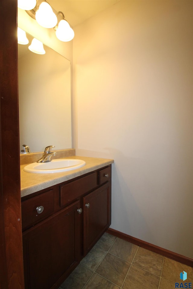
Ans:
[{"label": "beige laminate countertop surrounding the white sink", "polygon": [[112,159],[94,157],[71,156],[66,158],[84,160],[86,165],[79,169],[74,169],[67,172],[55,172],[46,174],[24,172],[23,168],[26,166],[26,164],[21,165],[21,197],[32,194],[36,191],[43,190],[45,188],[49,188],[53,185],[57,185],[70,179],[74,179],[78,176],[82,176],[88,172],[92,172],[96,169],[102,168],[103,166],[108,166],[109,164],[114,163],[114,160]]}]

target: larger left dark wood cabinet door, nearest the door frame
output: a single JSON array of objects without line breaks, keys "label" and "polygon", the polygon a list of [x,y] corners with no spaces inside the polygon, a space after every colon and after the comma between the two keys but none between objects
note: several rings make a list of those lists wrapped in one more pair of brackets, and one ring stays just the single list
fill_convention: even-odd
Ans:
[{"label": "larger left dark wood cabinet door, nearest the door frame", "polygon": [[26,289],[54,288],[80,261],[82,214],[78,209],[79,200],[23,233]]}]

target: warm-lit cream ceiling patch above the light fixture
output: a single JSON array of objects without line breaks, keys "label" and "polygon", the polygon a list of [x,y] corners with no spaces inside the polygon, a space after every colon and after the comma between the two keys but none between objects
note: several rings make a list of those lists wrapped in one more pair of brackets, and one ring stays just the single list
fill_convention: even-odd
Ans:
[{"label": "warm-lit cream ceiling patch above the light fixture", "polygon": [[48,3],[56,11],[62,11],[65,19],[74,27],[119,1],[121,0],[48,0]]}]

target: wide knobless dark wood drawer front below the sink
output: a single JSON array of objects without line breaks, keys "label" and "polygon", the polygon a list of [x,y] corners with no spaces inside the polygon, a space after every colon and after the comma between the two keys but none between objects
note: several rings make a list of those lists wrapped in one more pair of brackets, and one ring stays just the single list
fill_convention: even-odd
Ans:
[{"label": "wide knobless dark wood drawer front below the sink", "polygon": [[68,183],[60,187],[60,206],[64,206],[88,191],[96,188],[97,173],[94,172],[89,176]]}]

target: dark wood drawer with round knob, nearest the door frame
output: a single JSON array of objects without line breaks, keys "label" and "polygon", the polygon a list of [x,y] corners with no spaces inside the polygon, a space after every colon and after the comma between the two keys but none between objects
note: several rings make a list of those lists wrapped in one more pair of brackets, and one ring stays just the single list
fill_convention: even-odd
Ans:
[{"label": "dark wood drawer with round knob, nearest the door frame", "polygon": [[[39,207],[39,210],[38,210]],[[43,210],[42,210],[43,209]],[[39,213],[38,213],[39,211]],[[54,212],[54,189],[21,203],[22,228],[37,223]]]}]

